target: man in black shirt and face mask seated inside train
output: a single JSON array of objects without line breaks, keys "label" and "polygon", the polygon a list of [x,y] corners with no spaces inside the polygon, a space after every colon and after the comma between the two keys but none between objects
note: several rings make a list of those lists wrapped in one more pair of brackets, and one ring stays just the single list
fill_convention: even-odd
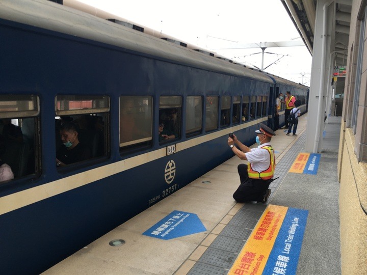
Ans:
[{"label": "man in black shirt and face mask seated inside train", "polygon": [[78,140],[78,131],[72,122],[65,122],[61,125],[60,137],[64,146],[61,146],[56,153],[58,167],[91,158],[90,149]]}]

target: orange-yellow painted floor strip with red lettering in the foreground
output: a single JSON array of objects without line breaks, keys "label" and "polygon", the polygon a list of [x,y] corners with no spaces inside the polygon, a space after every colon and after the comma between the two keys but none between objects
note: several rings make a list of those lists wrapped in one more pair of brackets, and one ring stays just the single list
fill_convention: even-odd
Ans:
[{"label": "orange-yellow painted floor strip with red lettering in the foreground", "polygon": [[228,274],[262,274],[288,207],[269,205]]}]

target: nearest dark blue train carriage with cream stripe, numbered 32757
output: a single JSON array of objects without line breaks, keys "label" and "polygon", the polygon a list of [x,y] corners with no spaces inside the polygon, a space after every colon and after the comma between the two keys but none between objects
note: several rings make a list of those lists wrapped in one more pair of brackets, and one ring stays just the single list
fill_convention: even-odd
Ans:
[{"label": "nearest dark blue train carriage with cream stripe, numbered 32757", "polygon": [[[0,130],[22,137],[1,154],[4,274],[53,266],[232,157],[229,132],[250,145],[268,121],[263,73],[52,2],[1,6]],[[58,167],[67,121],[90,157]]]}]

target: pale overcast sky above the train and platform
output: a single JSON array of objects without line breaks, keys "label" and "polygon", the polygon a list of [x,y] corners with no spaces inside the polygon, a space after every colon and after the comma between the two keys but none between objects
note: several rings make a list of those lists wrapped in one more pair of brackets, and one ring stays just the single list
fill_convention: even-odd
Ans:
[{"label": "pale overcast sky above the train and platform", "polygon": [[[260,48],[232,48],[249,43],[302,41],[280,0],[78,1],[258,68]],[[311,61],[306,46],[269,47],[265,49],[264,71],[309,86]]]}]

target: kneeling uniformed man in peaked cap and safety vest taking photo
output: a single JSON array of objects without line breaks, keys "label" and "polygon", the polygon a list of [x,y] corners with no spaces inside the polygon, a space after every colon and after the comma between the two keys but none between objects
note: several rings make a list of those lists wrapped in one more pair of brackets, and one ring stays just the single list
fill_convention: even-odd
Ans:
[{"label": "kneeling uniformed man in peaked cap and safety vest taking photo", "polygon": [[[238,172],[241,184],[233,194],[237,202],[257,201],[266,203],[271,194],[270,183],[274,180],[275,155],[270,144],[274,131],[265,124],[260,124],[257,133],[257,148],[250,149],[242,144],[234,134],[228,137],[228,145],[239,158],[248,160],[249,163],[239,164]],[[238,149],[237,145],[240,149]]]}]

